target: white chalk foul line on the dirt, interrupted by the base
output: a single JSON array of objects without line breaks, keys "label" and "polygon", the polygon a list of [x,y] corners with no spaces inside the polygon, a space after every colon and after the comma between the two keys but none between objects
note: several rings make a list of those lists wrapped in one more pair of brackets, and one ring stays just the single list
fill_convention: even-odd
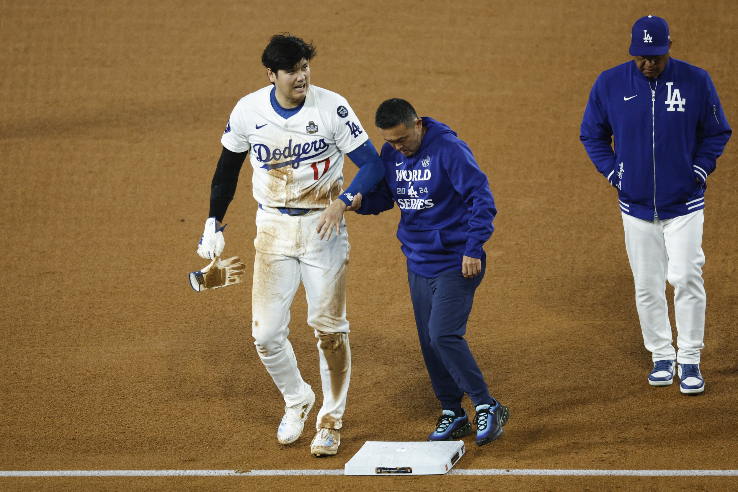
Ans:
[{"label": "white chalk foul line on the dirt, interrupted by the base", "polygon": [[[0,477],[277,477],[342,475],[343,470],[51,470],[0,471]],[[454,469],[448,475],[556,475],[560,477],[738,477],[738,470]]]}]

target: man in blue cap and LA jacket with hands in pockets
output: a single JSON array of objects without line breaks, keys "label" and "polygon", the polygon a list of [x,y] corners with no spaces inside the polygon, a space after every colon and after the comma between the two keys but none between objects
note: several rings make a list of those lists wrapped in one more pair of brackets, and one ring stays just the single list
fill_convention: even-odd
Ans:
[{"label": "man in blue cap and LA jacket with hands in pockets", "polygon": [[[672,384],[678,366],[681,392],[694,394],[705,389],[700,350],[706,181],[731,128],[708,73],[669,58],[671,47],[663,18],[639,18],[631,31],[634,59],[597,78],[580,138],[597,170],[618,190],[635,303],[654,362],[649,384]],[[678,353],[666,280],[674,285]]]}]

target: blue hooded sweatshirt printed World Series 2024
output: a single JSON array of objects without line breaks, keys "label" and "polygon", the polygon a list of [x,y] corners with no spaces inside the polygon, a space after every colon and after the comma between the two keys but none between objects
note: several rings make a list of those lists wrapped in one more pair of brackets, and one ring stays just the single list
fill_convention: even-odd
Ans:
[{"label": "blue hooded sweatshirt printed World Series 2024", "polygon": [[461,270],[464,255],[484,258],[497,209],[487,176],[469,145],[456,132],[428,117],[420,147],[406,157],[389,143],[382,147],[384,179],[362,194],[362,215],[377,215],[395,206],[401,210],[397,238],[407,268],[432,278]]}]

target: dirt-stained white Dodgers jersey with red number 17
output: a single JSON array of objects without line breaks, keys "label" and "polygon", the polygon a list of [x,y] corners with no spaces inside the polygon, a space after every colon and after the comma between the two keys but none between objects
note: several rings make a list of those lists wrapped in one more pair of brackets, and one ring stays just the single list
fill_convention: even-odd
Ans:
[{"label": "dirt-stained white Dodgers jersey with red number 17", "polygon": [[308,86],[305,103],[288,119],[269,100],[273,86],[235,105],[221,143],[249,152],[254,198],[266,207],[328,207],[342,193],[343,156],[369,138],[346,100]]}]

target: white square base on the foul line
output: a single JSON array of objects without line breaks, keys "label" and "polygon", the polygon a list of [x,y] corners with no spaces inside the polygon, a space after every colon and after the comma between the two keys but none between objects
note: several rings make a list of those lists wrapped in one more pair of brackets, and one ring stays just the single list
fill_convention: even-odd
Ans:
[{"label": "white square base on the foul line", "polygon": [[344,466],[346,475],[443,475],[466,452],[463,441],[367,441]]}]

